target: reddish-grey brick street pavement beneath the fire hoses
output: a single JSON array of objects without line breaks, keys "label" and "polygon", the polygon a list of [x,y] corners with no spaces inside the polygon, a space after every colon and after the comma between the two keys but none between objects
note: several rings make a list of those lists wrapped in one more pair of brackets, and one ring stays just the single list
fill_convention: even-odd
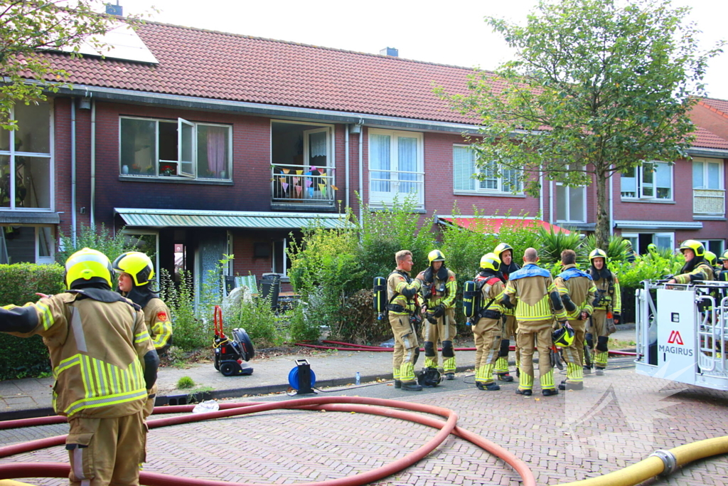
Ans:
[{"label": "reddish-grey brick street pavement beneath the fire hoses", "polygon": [[[728,434],[728,393],[636,375],[631,367],[587,376],[585,391],[555,397],[517,396],[475,388],[427,396],[392,390],[393,399],[435,404],[459,414],[459,425],[530,464],[539,485],[615,471],[655,449]],[[28,440],[58,434],[23,431]],[[0,442],[15,437],[0,431]],[[403,457],[435,434],[393,418],[341,412],[279,411],[151,431],[147,471],[237,482],[322,481],[368,471]],[[12,442],[12,441],[11,441]],[[0,462],[11,460],[5,458]],[[61,447],[12,458],[64,462]],[[728,458],[698,461],[660,485],[723,485]],[[37,485],[66,484],[35,479]],[[518,485],[518,477],[486,452],[451,436],[427,458],[378,485]],[[652,484],[652,482],[649,482]]]}]

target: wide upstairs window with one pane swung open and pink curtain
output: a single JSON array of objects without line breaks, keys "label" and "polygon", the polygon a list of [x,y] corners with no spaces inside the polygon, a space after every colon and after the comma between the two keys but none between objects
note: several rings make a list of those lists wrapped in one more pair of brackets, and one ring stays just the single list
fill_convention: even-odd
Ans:
[{"label": "wide upstairs window with one pane swung open and pink curtain", "polygon": [[129,117],[119,124],[122,176],[231,179],[229,126]]}]

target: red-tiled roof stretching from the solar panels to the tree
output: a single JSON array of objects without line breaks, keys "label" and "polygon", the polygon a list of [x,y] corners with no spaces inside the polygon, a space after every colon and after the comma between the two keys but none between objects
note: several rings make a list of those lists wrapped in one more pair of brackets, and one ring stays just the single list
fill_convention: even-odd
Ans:
[{"label": "red-tiled roof stretching from the solar panels to the tree", "polygon": [[[472,68],[149,22],[158,65],[50,53],[68,81],[151,93],[467,122],[432,92],[465,93]],[[403,89],[404,88],[404,89]]]}]

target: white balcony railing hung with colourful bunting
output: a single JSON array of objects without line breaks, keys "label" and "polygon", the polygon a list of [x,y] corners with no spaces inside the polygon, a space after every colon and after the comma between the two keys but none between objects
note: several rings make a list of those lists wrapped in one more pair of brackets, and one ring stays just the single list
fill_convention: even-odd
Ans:
[{"label": "white balcony railing hung with colourful bunting", "polygon": [[333,169],[276,164],[271,167],[274,203],[333,205]]}]

